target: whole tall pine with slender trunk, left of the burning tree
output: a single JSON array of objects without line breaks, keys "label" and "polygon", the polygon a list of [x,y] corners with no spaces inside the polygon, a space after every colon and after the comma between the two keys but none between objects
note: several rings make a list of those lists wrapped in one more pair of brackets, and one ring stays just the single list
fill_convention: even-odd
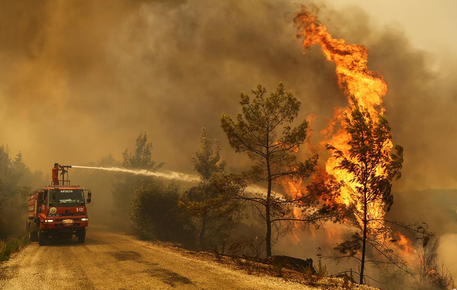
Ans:
[{"label": "whole tall pine with slender trunk, left of the burning tree", "polygon": [[266,92],[260,84],[252,90],[252,100],[241,92],[243,114],[238,114],[236,121],[223,114],[221,126],[235,151],[245,152],[255,162],[250,171],[243,172],[241,178],[248,183],[267,183],[266,194],[244,190],[239,198],[249,201],[257,216],[265,222],[266,251],[267,256],[271,256],[272,225],[279,233],[280,223],[290,220],[283,217],[295,202],[277,196],[272,191],[273,182],[285,177],[308,178],[317,163],[317,155],[305,162],[297,162],[295,152],[305,141],[306,120],[295,128],[285,125],[282,134],[278,134],[280,126],[291,123],[298,116],[300,102],[292,92],[285,91],[282,83],[268,98]]}]

